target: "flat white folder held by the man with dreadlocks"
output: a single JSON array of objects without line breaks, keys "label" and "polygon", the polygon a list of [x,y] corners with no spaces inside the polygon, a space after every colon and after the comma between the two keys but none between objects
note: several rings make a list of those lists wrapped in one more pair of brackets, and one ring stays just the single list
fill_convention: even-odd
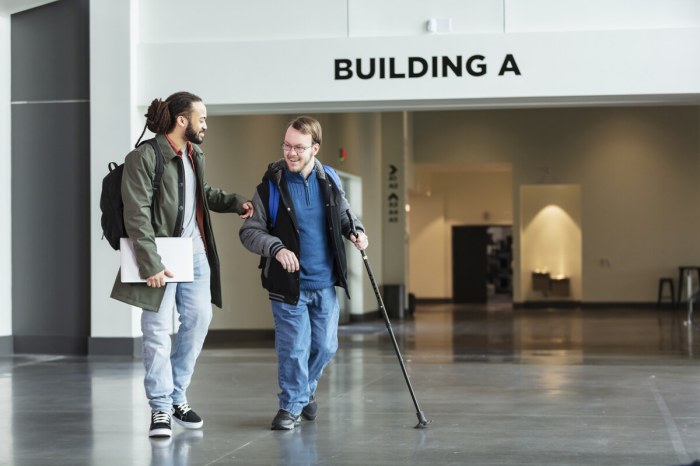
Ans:
[{"label": "flat white folder held by the man with dreadlocks", "polygon": [[[156,238],[156,249],[165,268],[173,273],[173,277],[165,277],[166,282],[194,281],[194,263],[192,261],[192,238]],[[134,244],[129,238],[119,242],[121,252],[122,283],[145,282],[139,275],[136,263]]]}]

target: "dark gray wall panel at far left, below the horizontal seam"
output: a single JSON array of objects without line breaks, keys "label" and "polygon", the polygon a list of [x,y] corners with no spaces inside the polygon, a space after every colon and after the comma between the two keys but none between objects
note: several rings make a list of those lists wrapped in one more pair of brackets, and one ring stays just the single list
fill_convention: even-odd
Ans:
[{"label": "dark gray wall panel at far left, below the horizontal seam", "polygon": [[15,336],[81,336],[90,322],[89,104],[12,106]]}]

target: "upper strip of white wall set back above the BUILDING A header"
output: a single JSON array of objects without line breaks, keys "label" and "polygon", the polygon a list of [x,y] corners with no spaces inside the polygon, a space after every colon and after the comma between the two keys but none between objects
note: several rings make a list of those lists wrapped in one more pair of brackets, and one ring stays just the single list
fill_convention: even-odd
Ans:
[{"label": "upper strip of white wall set back above the BUILDING A header", "polygon": [[[696,0],[151,0],[140,10],[144,43],[426,36],[430,18],[450,18],[451,34],[700,27]],[[170,27],[183,11],[206,27]]]}]

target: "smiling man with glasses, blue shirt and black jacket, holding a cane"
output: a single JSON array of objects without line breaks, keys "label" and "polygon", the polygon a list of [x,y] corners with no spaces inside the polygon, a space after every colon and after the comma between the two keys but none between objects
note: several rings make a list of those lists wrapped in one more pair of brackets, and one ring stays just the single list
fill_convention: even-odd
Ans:
[{"label": "smiling man with glasses, blue shirt and black jacket, holding a cane", "polygon": [[281,391],[272,430],[292,430],[302,417],[316,419],[318,380],[338,349],[334,287],[347,293],[343,238],[360,250],[368,245],[337,174],[316,160],[320,147],[317,120],[300,116],[289,123],[284,158],[268,166],[253,196],[254,214],[240,230],[243,245],[262,256],[262,283],[275,320]]}]

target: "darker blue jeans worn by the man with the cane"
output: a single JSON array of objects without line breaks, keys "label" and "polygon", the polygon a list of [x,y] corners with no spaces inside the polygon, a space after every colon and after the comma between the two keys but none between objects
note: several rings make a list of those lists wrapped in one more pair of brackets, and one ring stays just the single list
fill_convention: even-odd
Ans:
[{"label": "darker blue jeans worn by the man with the cane", "polygon": [[338,350],[334,287],[301,290],[296,305],[270,301],[275,318],[280,409],[299,415]]}]

